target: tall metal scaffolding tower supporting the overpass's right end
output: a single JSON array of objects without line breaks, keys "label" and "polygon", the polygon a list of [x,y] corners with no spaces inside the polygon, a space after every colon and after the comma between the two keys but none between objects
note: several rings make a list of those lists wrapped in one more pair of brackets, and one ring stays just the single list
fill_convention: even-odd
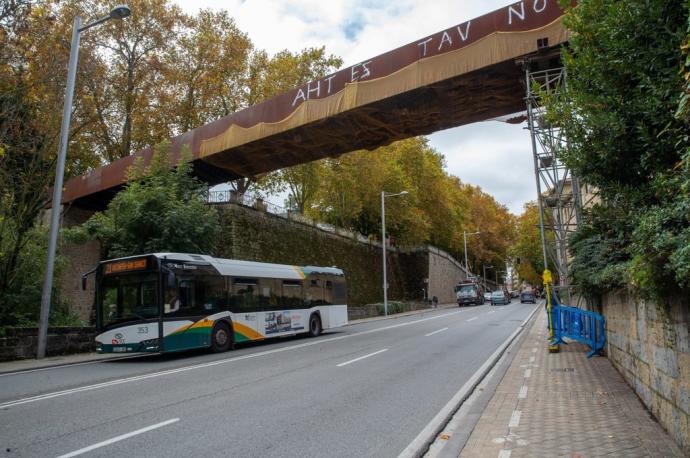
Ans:
[{"label": "tall metal scaffolding tower supporting the overpass's right end", "polygon": [[[568,236],[580,223],[582,197],[576,176],[559,159],[567,140],[558,125],[546,119],[542,96],[556,95],[565,87],[563,67],[533,70],[543,59],[525,60],[527,123],[532,139],[534,173],[537,182],[541,242],[544,265],[558,272],[559,286],[568,287]],[[547,233],[553,234],[551,243]],[[550,260],[551,262],[547,262]]]}]

